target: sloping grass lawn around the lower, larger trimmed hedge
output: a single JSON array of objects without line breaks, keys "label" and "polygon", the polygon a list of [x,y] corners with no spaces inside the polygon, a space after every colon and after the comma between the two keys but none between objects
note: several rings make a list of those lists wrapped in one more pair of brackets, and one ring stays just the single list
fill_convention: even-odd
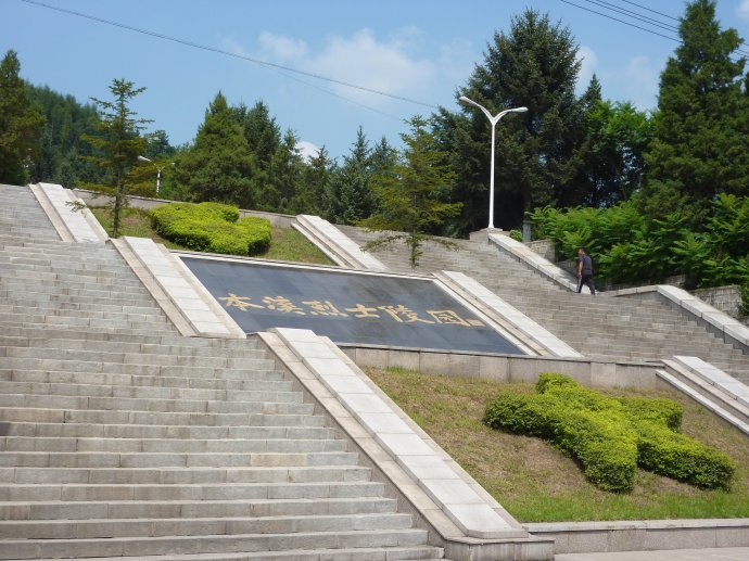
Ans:
[{"label": "sloping grass lawn around the lower, larger trimmed hedge", "polygon": [[[639,470],[634,492],[615,495],[587,483],[577,464],[538,438],[506,434],[481,419],[508,384],[399,369],[367,373],[414,421],[522,522],[749,517],[749,437],[675,393],[615,395],[668,397],[684,406],[682,432],[731,456],[729,493],[700,490]],[[534,392],[531,384],[509,384]]]}]

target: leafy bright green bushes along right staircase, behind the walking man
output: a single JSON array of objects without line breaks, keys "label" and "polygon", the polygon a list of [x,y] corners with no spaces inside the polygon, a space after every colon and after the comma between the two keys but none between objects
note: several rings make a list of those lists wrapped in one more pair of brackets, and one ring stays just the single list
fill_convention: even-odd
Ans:
[{"label": "leafy bright green bushes along right staircase, behind the walking man", "polygon": [[554,240],[562,260],[587,247],[597,275],[615,283],[682,273],[689,290],[749,283],[749,196],[715,196],[701,229],[681,213],[645,216],[631,201],[610,208],[537,208],[529,218],[536,239]]}]

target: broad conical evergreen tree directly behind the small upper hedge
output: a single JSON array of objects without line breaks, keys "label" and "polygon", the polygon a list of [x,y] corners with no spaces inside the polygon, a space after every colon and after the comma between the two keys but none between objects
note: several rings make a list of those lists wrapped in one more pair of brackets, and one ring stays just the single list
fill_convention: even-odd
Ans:
[{"label": "broad conical evergreen tree directly behind the small upper hedge", "polygon": [[177,189],[195,202],[232,203],[254,208],[256,160],[244,130],[221,92],[210,104],[195,140],[176,160]]}]

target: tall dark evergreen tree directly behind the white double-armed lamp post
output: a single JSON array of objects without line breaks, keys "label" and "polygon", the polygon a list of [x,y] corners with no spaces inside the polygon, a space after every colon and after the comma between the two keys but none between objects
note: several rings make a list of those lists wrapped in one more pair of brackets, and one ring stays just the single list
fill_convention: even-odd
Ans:
[{"label": "tall dark evergreen tree directly behind the white double-armed lamp post", "polygon": [[[569,28],[529,9],[512,18],[509,34],[494,35],[483,64],[457,92],[492,114],[529,109],[496,126],[498,226],[517,226],[524,213],[567,196],[584,124],[584,105],[574,92],[579,71],[577,46]],[[456,225],[465,233],[486,225],[491,125],[475,107],[462,111],[455,115],[441,110],[435,130],[443,150],[454,154],[457,180],[450,200],[465,203]]]}]

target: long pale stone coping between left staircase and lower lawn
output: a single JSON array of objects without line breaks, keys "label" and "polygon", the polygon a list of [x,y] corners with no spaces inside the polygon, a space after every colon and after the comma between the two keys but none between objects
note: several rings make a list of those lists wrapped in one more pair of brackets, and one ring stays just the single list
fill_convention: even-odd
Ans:
[{"label": "long pale stone coping between left staircase and lower lawn", "polygon": [[383,399],[366,374],[328,337],[299,329],[276,328],[270,332],[279,336],[466,536],[529,537],[478,483],[466,481],[465,472],[454,470],[446,452],[415,430],[403,411],[394,410],[396,406]]}]

